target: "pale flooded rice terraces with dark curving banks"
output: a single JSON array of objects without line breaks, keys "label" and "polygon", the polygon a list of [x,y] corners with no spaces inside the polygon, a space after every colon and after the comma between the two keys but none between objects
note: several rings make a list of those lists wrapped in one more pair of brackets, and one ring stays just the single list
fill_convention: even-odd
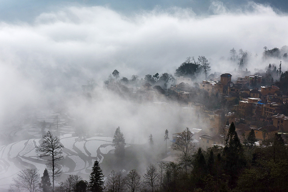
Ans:
[{"label": "pale flooded rice terraces with dark curving banks", "polygon": [[[57,114],[60,116],[60,114]],[[55,116],[55,115],[54,115]],[[51,116],[53,117],[53,116]],[[45,122],[52,121],[43,115]],[[40,122],[44,121],[41,119]],[[65,123],[65,119],[58,122],[58,129],[55,129],[55,123],[46,126],[45,132],[50,130],[53,135],[59,135],[60,142],[64,146],[64,159],[58,163],[62,167],[62,179],[70,174],[78,174],[84,179],[89,179],[92,165],[95,160],[103,161],[103,154],[113,150],[112,138],[98,134],[90,138],[75,136],[74,130]],[[6,130],[6,133],[9,132]],[[43,174],[46,168],[46,159],[38,159],[35,153],[35,147],[41,143],[43,127],[38,124],[20,124],[10,128],[8,133],[10,137],[20,136],[30,137],[31,139],[20,140],[8,145],[0,146],[0,191],[1,188],[7,189],[16,174],[26,168],[37,168],[39,173]],[[27,134],[31,136],[27,136]],[[15,140],[15,139],[14,139]]]}]

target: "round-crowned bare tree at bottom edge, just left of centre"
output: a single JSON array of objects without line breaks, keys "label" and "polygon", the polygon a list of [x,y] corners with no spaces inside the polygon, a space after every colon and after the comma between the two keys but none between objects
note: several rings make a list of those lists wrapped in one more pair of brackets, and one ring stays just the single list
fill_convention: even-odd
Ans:
[{"label": "round-crowned bare tree at bottom edge, just left of centre", "polygon": [[140,179],[141,176],[138,174],[138,172],[135,169],[131,170],[125,177],[125,185],[128,191],[131,192],[139,191],[141,186]]}]

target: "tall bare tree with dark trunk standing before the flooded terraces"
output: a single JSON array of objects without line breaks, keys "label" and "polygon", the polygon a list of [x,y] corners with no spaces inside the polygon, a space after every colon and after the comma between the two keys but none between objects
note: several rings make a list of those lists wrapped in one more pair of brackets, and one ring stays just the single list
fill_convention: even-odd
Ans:
[{"label": "tall bare tree with dark trunk standing before the flooded terraces", "polygon": [[47,164],[48,170],[52,172],[52,189],[54,191],[54,183],[61,174],[59,164],[56,161],[63,159],[62,148],[63,145],[60,143],[60,139],[57,136],[53,136],[50,131],[46,135],[42,136],[43,142],[41,145],[36,147],[37,157],[51,157],[50,162]]}]

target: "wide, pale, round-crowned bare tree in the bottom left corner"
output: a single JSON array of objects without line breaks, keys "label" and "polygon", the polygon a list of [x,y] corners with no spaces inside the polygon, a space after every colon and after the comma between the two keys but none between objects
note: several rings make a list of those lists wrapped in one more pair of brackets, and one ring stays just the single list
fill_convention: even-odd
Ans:
[{"label": "wide, pale, round-crowned bare tree in the bottom left corner", "polygon": [[39,189],[40,182],[40,174],[38,173],[38,169],[25,169],[21,170],[20,173],[17,174],[16,178],[12,179],[14,183],[10,185],[9,191],[30,191],[35,192]]}]

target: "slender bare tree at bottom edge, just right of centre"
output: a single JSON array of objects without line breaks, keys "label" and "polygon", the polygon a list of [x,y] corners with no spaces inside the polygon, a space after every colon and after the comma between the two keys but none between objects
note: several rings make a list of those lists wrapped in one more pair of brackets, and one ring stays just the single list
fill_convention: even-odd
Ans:
[{"label": "slender bare tree at bottom edge, just right of centre", "polygon": [[146,168],[146,173],[143,175],[143,185],[151,189],[151,192],[156,191],[158,173],[155,165],[150,164]]}]

